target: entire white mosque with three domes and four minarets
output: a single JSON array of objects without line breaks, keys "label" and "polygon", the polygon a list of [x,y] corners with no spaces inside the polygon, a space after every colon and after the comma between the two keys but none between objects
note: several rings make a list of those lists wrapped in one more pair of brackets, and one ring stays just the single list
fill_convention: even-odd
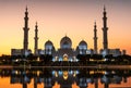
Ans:
[{"label": "entire white mosque with three domes and four minarets", "polygon": [[[75,49],[72,48],[72,40],[70,37],[64,36],[60,40],[60,48],[56,49],[53,43],[50,40],[47,40],[46,43],[44,45],[44,49],[38,49],[38,25],[36,23],[35,25],[35,37],[34,37],[34,54],[35,55],[40,55],[40,54],[51,54],[55,59],[58,59],[62,61],[62,59],[75,59],[78,54],[114,54],[114,55],[120,55],[121,51],[120,49],[109,49],[108,48],[108,27],[107,27],[107,16],[106,16],[106,8],[104,7],[104,12],[103,12],[103,49],[97,50],[97,26],[96,22],[94,24],[94,49],[88,49],[87,42],[82,40],[78,45]],[[26,8],[25,11],[25,17],[24,17],[24,40],[23,40],[23,49],[11,49],[11,54],[12,55],[28,55],[32,53],[32,50],[28,49],[28,11]],[[123,50],[126,53],[126,51]]]}]

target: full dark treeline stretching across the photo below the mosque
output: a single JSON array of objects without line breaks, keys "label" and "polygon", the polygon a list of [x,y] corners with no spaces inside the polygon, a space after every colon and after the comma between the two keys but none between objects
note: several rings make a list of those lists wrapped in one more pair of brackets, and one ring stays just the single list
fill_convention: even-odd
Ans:
[{"label": "full dark treeline stretching across the photo below the mosque", "polygon": [[114,56],[108,54],[103,56],[102,54],[78,54],[78,62],[71,61],[55,61],[52,62],[52,55],[1,55],[0,65],[31,65],[31,66],[87,66],[97,64],[114,64],[114,65],[129,65],[131,64],[131,55],[123,54]]}]

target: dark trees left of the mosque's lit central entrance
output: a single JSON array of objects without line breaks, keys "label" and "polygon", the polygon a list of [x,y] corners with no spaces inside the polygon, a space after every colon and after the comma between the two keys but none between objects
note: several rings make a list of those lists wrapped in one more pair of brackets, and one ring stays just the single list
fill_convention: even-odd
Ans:
[{"label": "dark trees left of the mosque's lit central entrance", "polygon": [[0,65],[49,65],[51,62],[52,55],[45,54],[45,55],[33,55],[29,54],[25,55],[1,55],[0,56]]}]

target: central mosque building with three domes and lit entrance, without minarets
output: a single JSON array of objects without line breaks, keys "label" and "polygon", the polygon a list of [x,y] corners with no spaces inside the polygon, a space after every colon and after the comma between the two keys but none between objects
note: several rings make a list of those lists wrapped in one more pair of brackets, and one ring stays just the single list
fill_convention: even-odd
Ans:
[{"label": "central mosque building with three domes and lit entrance, without minarets", "polygon": [[50,40],[46,41],[44,47],[45,50],[38,50],[38,54],[50,54],[56,59],[59,58],[60,61],[66,58],[75,60],[78,54],[93,54],[93,50],[87,48],[87,43],[84,40],[80,41],[76,49],[73,49],[72,40],[68,36],[61,38],[59,49],[55,49]]}]

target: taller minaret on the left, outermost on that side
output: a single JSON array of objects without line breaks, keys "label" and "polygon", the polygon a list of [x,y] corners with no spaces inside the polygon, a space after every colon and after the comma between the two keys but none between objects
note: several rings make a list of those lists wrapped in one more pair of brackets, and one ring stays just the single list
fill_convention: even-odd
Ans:
[{"label": "taller minaret on the left, outermost on that side", "polygon": [[24,49],[24,53],[25,51],[28,50],[28,12],[27,12],[27,7],[26,7],[26,11],[25,11],[25,17],[24,17],[25,24],[24,24],[24,42],[23,42],[23,49]]}]

